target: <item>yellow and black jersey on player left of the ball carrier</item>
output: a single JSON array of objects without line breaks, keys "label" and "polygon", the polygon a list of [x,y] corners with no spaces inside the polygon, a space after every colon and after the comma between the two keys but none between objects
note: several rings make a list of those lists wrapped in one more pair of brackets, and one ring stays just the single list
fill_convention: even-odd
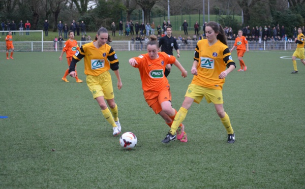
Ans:
[{"label": "yellow and black jersey on player left of the ball carrier", "polygon": [[75,70],[76,63],[82,58],[84,58],[86,75],[98,76],[109,69],[118,69],[118,59],[112,47],[105,44],[100,48],[96,48],[93,42],[82,45],[76,51],[71,61],[69,73]]}]

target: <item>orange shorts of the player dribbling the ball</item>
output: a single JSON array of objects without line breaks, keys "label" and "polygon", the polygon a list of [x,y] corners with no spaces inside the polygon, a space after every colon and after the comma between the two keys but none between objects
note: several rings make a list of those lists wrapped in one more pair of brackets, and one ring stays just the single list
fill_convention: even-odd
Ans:
[{"label": "orange shorts of the player dribbling the ball", "polygon": [[171,102],[170,88],[167,86],[166,89],[162,91],[145,91],[144,98],[148,106],[153,109],[156,114],[158,114],[162,110],[161,103],[165,101]]}]

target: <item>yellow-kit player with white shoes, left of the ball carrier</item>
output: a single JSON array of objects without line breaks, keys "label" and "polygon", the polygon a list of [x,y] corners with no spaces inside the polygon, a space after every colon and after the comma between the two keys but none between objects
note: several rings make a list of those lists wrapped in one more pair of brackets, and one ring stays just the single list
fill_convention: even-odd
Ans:
[{"label": "yellow-kit player with white shoes, left of the ball carrier", "polygon": [[122,87],[122,82],[118,72],[116,53],[107,42],[111,42],[108,31],[106,28],[101,27],[98,30],[96,39],[91,43],[82,45],[73,55],[69,73],[71,77],[76,77],[76,63],[84,58],[86,81],[89,90],[92,92],[93,98],[99,103],[102,114],[112,125],[113,136],[117,136],[121,132],[121,125],[118,120],[117,105],[114,102],[112,79],[108,70],[111,69],[114,72],[118,89]]}]

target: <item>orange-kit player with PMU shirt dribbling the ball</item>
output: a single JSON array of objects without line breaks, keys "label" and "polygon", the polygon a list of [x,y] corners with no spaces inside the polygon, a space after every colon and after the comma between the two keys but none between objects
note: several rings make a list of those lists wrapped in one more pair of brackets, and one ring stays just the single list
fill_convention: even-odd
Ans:
[{"label": "orange-kit player with PMU shirt dribbling the ball", "polygon": [[[129,64],[139,69],[144,98],[148,106],[171,127],[177,111],[172,108],[170,85],[164,75],[166,65],[174,64],[181,71],[182,77],[187,77],[188,73],[174,56],[158,51],[157,37],[151,35],[147,42],[147,53],[129,59]],[[177,130],[177,139],[181,142],[188,141],[182,123]]]}]

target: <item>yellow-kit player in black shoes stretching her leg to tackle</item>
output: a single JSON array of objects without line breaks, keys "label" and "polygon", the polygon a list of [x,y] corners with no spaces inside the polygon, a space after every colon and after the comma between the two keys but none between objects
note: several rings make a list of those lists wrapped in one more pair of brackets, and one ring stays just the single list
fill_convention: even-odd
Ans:
[{"label": "yellow-kit player in black shoes stretching her leg to tackle", "polygon": [[208,22],[205,26],[205,35],[206,39],[198,41],[195,48],[191,69],[191,73],[194,75],[192,83],[187,89],[185,100],[174,118],[168,135],[162,141],[163,143],[169,143],[172,138],[175,138],[176,131],[186,118],[193,102],[199,104],[203,97],[207,103],[214,104],[216,112],[227,130],[227,143],[235,142],[230,118],[223,107],[222,94],[225,77],[236,68],[235,62],[232,60],[227,46],[225,31],[219,23]]}]

